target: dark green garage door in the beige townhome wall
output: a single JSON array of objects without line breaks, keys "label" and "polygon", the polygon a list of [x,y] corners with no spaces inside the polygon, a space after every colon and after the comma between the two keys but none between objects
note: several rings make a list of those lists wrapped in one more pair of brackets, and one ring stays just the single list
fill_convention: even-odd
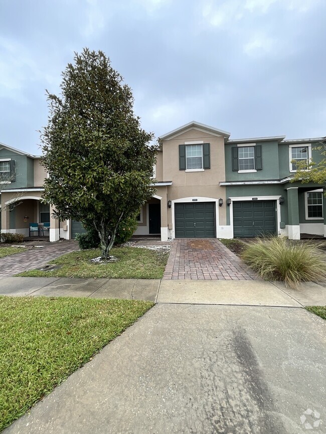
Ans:
[{"label": "dark green garage door in the beige townhome wall", "polygon": [[215,203],[175,204],[176,238],[215,238]]}]

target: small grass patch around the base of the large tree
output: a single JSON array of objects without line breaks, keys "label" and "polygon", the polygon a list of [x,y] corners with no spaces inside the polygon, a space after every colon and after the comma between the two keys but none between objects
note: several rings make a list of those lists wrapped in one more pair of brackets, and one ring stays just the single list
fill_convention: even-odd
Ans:
[{"label": "small grass patch around the base of the large tree", "polygon": [[67,253],[49,264],[61,268],[53,271],[31,270],[19,274],[25,277],[96,277],[116,279],[160,279],[168,260],[168,253],[136,247],[116,247],[111,255],[118,258],[111,264],[92,264],[90,259],[100,256],[99,250]]}]

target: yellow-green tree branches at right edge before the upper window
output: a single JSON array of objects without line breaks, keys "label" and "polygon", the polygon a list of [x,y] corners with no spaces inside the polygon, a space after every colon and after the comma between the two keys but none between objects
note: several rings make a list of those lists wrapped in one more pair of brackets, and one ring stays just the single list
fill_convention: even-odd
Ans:
[{"label": "yellow-green tree branches at right edge before the upper window", "polygon": [[301,181],[302,183],[315,182],[324,184],[326,182],[326,140],[321,141],[319,146],[315,146],[316,151],[323,155],[318,163],[314,161],[292,161],[296,163],[297,170],[290,182]]}]

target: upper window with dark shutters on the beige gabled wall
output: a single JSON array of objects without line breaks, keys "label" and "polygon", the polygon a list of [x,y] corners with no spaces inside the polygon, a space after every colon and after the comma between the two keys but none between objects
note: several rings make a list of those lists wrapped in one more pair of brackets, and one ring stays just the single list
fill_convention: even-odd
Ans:
[{"label": "upper window with dark shutters on the beige gabled wall", "polygon": [[179,169],[189,172],[204,171],[211,168],[210,144],[185,142],[179,145]]}]

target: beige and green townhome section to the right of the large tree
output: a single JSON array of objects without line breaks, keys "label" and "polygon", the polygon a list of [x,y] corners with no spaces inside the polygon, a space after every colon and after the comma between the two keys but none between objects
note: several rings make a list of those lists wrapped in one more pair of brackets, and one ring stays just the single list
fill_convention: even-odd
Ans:
[{"label": "beige and green townhome section to the right of the large tree", "polygon": [[143,205],[135,234],[160,234],[162,240],[325,236],[323,186],[290,182],[294,160],[318,161],[314,147],[323,140],[230,139],[198,122],[164,134],[156,193]]}]

